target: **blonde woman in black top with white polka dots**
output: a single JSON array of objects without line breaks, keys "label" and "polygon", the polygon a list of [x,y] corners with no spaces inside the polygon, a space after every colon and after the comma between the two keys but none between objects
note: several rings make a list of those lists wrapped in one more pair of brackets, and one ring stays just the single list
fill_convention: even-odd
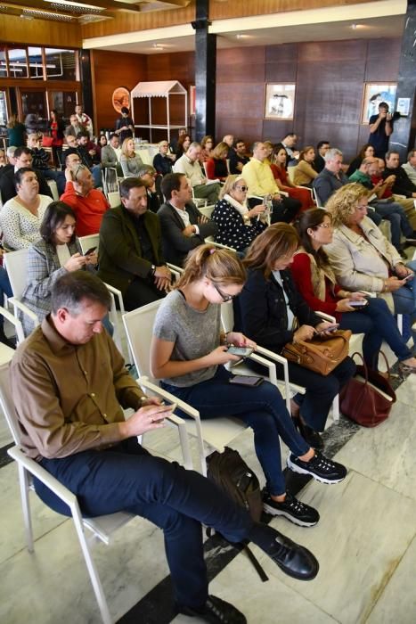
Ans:
[{"label": "blonde woman in black top with white polka dots", "polygon": [[265,205],[247,207],[247,185],[241,176],[228,176],[212,213],[216,223],[216,242],[236,250],[240,258],[249,245],[267,227]]}]

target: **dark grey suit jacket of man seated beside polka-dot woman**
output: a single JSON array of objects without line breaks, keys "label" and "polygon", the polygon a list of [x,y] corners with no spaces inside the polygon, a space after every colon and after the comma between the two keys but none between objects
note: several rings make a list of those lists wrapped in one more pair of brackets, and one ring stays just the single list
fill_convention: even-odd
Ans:
[{"label": "dark grey suit jacket of man seated beside polka-dot woman", "polygon": [[205,238],[215,236],[217,226],[214,221],[208,220],[208,223],[200,224],[198,219],[202,217],[200,210],[192,203],[187,203],[185,210],[189,215],[190,224],[200,228],[200,234],[195,236],[184,236],[184,221],[179,217],[175,208],[166,202],[160,206],[158,217],[162,230],[162,250],[167,262],[176,267],[183,267],[184,261],[188,253],[203,245]]}]

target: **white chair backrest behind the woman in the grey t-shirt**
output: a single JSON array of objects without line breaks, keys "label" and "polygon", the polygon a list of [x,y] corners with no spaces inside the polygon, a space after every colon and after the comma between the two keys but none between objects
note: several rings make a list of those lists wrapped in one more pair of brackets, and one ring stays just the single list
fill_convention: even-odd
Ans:
[{"label": "white chair backrest behind the woman in the grey t-shirt", "polygon": [[160,303],[161,300],[153,301],[147,306],[123,315],[127,341],[135,361],[137,374],[139,377],[149,377],[157,385],[159,385],[159,381],[151,375],[150,352],[154,319]]}]

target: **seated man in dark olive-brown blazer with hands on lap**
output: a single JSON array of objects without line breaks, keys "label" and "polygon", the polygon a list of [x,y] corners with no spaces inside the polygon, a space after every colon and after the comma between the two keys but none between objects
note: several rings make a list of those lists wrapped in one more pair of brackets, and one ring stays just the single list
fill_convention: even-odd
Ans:
[{"label": "seated man in dark olive-brown blazer with hands on lap", "polygon": [[159,218],[147,209],[143,180],[127,177],[120,184],[121,206],[102,218],[98,275],[123,294],[127,310],[166,295],[171,273],[161,249]]}]

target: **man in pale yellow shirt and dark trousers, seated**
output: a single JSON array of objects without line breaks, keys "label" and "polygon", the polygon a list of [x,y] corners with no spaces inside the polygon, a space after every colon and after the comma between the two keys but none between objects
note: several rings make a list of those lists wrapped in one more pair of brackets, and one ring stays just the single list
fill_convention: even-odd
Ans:
[{"label": "man in pale yellow shirt and dark trousers, seated", "polygon": [[272,169],[265,160],[267,147],[261,141],[253,144],[253,158],[242,168],[241,176],[249,186],[249,207],[262,203],[259,198],[271,196],[273,204],[272,223],[276,221],[292,221],[301,207],[298,200],[282,197],[274,180]]}]

